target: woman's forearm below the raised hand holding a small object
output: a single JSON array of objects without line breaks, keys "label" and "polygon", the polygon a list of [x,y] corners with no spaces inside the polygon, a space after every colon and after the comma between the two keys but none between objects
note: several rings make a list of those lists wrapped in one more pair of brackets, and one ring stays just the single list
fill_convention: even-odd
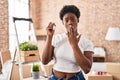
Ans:
[{"label": "woman's forearm below the raised hand holding a small object", "polygon": [[46,44],[43,50],[43,54],[42,54],[42,62],[43,64],[47,64],[48,62],[50,62],[50,60],[53,57],[53,52],[52,52],[52,37],[48,37],[46,39]]}]

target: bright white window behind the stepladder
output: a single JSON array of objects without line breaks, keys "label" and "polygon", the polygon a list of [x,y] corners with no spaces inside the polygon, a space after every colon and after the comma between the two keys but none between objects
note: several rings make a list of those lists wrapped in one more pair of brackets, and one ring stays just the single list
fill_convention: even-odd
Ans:
[{"label": "bright white window behind the stepladder", "polygon": [[[17,45],[13,17],[29,18],[29,0],[8,0],[9,7],[9,49],[12,53]],[[29,23],[16,21],[19,42],[28,40]]]}]

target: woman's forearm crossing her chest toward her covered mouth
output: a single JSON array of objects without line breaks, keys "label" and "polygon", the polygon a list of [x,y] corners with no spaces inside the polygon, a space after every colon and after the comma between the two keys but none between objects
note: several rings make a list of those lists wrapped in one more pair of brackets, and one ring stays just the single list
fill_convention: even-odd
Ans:
[{"label": "woman's forearm crossing her chest toward her covered mouth", "polygon": [[84,54],[82,54],[78,45],[73,46],[73,52],[79,66],[84,70],[85,73],[88,73],[92,66],[91,61]]}]

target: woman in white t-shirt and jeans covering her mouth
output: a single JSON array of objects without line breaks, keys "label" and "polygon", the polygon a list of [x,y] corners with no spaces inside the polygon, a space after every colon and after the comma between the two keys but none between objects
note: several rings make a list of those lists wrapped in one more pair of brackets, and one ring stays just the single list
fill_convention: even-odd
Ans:
[{"label": "woman in white t-shirt and jeans covering her mouth", "polygon": [[46,45],[42,62],[55,63],[49,80],[85,80],[82,72],[88,73],[92,66],[93,44],[77,31],[80,11],[74,5],[66,5],[60,11],[60,19],[66,33],[54,35],[55,23],[47,27]]}]

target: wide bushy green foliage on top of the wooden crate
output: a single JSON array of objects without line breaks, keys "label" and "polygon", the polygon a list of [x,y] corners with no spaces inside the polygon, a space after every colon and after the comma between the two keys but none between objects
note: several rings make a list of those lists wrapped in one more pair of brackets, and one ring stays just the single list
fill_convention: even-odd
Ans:
[{"label": "wide bushy green foliage on top of the wooden crate", "polygon": [[29,42],[23,42],[19,45],[21,51],[38,50],[38,47]]}]

